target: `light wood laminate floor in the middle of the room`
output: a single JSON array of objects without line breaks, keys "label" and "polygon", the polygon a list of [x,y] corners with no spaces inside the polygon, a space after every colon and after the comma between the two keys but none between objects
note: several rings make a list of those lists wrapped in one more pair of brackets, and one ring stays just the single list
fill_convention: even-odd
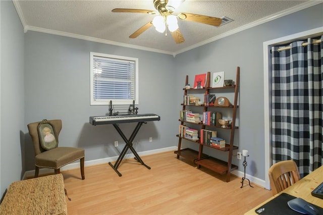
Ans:
[{"label": "light wood laminate floor in the middle of the room", "polygon": [[[123,160],[122,177],[108,165],[62,171],[68,214],[243,214],[272,196],[271,191],[176,158],[173,151]],[[184,162],[183,162],[184,161]]]}]

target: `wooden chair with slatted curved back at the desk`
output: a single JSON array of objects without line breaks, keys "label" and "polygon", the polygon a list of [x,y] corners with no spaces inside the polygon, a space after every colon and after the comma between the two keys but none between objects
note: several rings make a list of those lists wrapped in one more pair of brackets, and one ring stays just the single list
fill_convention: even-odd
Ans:
[{"label": "wooden chair with slatted curved back at the desk", "polygon": [[274,164],[268,171],[273,195],[300,180],[298,168],[294,160],[284,160]]}]

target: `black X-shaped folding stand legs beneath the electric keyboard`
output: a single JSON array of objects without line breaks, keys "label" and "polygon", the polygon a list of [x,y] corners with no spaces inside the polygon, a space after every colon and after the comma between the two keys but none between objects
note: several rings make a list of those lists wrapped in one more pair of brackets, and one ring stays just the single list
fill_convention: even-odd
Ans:
[{"label": "black X-shaped folding stand legs beneath the electric keyboard", "polygon": [[121,131],[121,129],[119,128],[118,124],[113,124],[113,126],[115,127],[115,129],[118,131],[118,133],[120,134],[120,136],[122,137],[122,139],[126,142],[125,147],[122,149],[115,165],[113,165],[111,162],[109,162],[109,165],[116,171],[116,173],[121,177],[122,174],[118,171],[118,167],[121,164],[124,156],[126,155],[128,149],[130,149],[132,151],[132,153],[135,155],[134,159],[137,160],[137,162],[140,162],[141,165],[145,166],[148,170],[150,170],[150,167],[148,167],[147,165],[145,165],[145,163],[143,163],[142,159],[140,158],[140,156],[138,155],[138,153],[136,152],[136,150],[133,148],[133,143],[132,141],[134,140],[134,138],[136,137],[140,127],[142,126],[142,124],[147,124],[146,122],[138,122],[137,126],[135,127],[135,129],[133,130],[131,136],[129,139],[127,139],[127,137],[124,135],[124,133]]}]

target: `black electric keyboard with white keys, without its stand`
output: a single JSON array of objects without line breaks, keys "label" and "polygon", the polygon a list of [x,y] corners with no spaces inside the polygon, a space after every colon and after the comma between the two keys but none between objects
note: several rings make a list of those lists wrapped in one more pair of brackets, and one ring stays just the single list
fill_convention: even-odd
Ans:
[{"label": "black electric keyboard with white keys, without its stand", "polygon": [[101,116],[90,117],[91,125],[106,125],[116,123],[134,123],[159,121],[160,117],[156,114],[131,114],[131,115],[116,115],[116,116]]}]

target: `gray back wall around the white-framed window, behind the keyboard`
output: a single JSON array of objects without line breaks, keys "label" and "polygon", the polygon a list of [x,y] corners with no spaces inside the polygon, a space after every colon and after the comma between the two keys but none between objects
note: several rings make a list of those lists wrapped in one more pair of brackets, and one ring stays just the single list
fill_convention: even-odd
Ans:
[{"label": "gray back wall around the white-framed window, behind the keyboard", "polygon": [[[90,51],[139,59],[139,114],[155,113],[159,122],[144,124],[135,138],[138,152],[174,146],[178,117],[173,56],[34,31],[25,34],[25,123],[62,119],[60,145],[85,148],[88,160],[119,155],[125,142],[112,125],[92,126],[107,105],[90,105]],[[120,124],[129,137],[135,124]],[[149,142],[149,137],[153,141]],[[119,141],[119,147],[114,141]],[[33,170],[32,143],[26,132],[27,170]],[[129,150],[130,152],[130,150]]]}]

